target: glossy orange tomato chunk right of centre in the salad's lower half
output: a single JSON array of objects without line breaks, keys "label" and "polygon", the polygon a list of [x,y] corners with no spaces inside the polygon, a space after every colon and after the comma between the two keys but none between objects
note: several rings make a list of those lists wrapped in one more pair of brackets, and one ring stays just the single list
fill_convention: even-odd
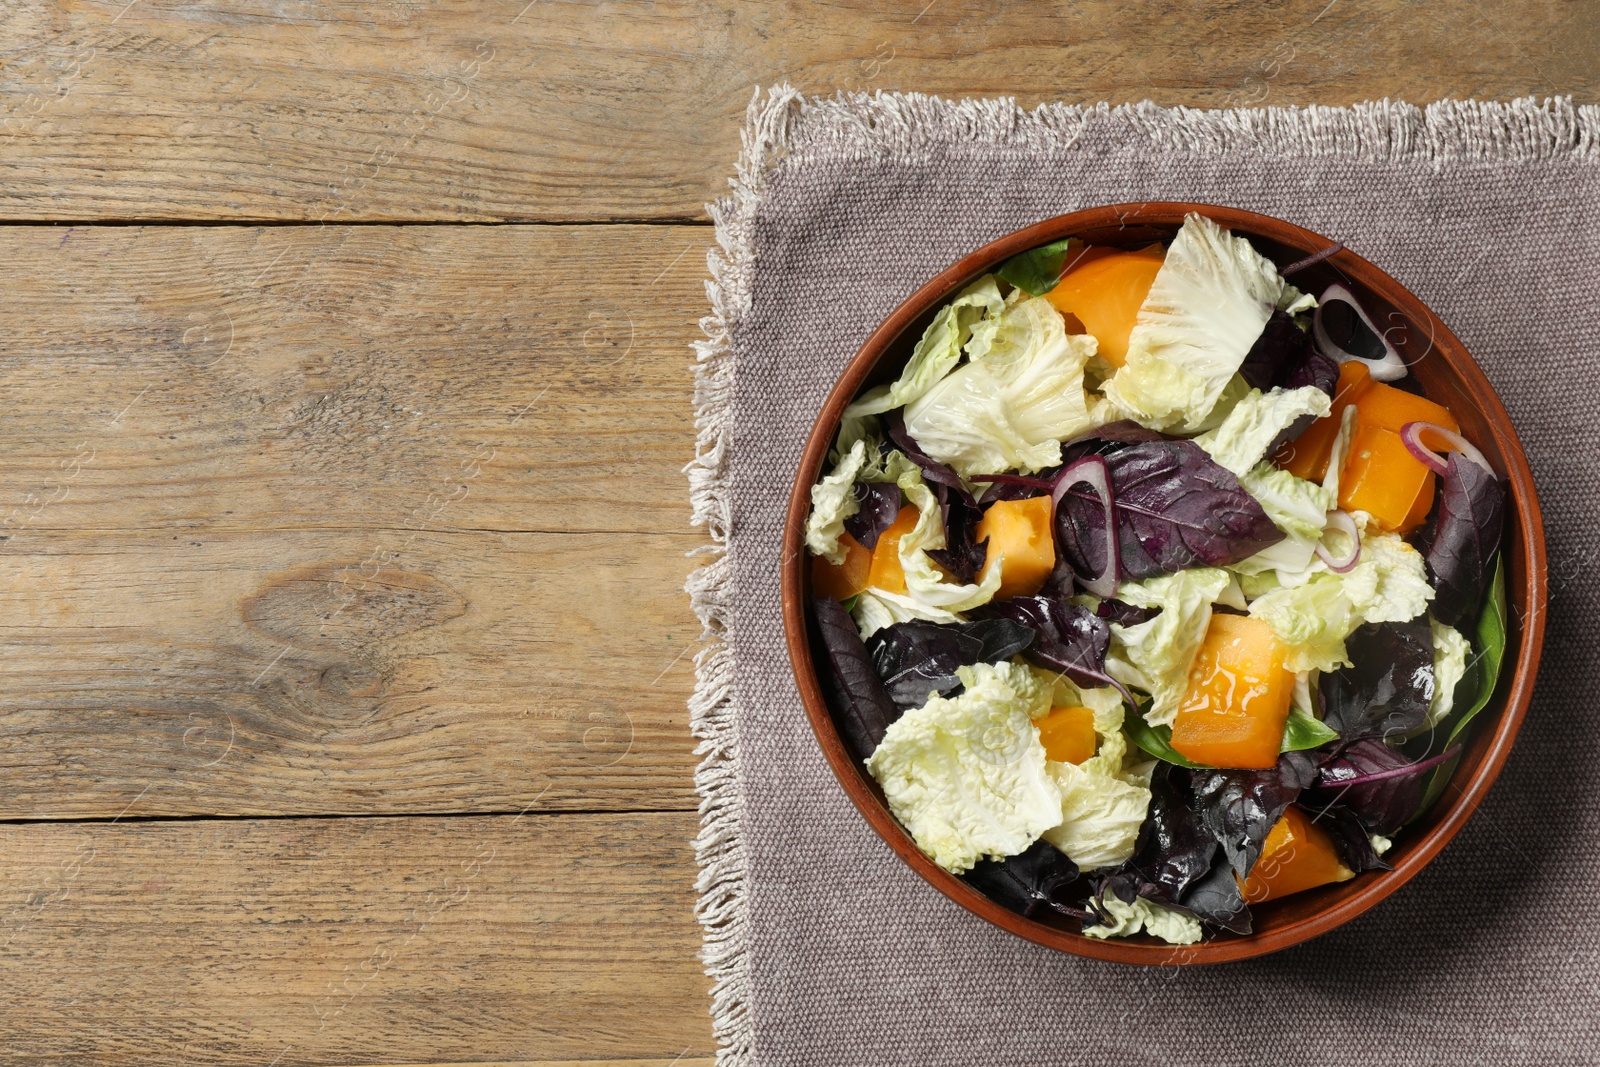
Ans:
[{"label": "glossy orange tomato chunk right of centre in the salad's lower half", "polygon": [[1261,619],[1213,614],[1173,720],[1173,749],[1210,766],[1275,765],[1294,696],[1283,656]]}]

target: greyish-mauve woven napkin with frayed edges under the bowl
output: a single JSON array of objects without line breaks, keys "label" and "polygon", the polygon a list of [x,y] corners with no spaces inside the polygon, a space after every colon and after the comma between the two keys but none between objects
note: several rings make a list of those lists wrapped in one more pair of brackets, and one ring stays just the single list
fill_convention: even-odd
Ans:
[{"label": "greyish-mauve woven napkin with frayed edges under the bowl", "polygon": [[[1600,109],[1198,112],[923,96],[752,102],[714,205],[690,590],[701,921],[725,1064],[1600,1062]],[[1197,200],[1346,242],[1499,390],[1549,523],[1544,672],[1499,784],[1405,889],[1302,947],[1150,969],[1040,949],[904,867],[845,800],[782,646],[784,499],[867,333],[966,251],[1075,208]]]}]

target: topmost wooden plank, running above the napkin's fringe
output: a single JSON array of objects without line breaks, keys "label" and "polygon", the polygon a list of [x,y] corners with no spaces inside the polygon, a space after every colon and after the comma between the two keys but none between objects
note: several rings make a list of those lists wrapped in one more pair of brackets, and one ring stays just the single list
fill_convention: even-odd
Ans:
[{"label": "topmost wooden plank, running above the napkin's fringe", "polygon": [[1581,0],[21,0],[0,216],[702,218],[750,86],[1160,104],[1600,93]]}]

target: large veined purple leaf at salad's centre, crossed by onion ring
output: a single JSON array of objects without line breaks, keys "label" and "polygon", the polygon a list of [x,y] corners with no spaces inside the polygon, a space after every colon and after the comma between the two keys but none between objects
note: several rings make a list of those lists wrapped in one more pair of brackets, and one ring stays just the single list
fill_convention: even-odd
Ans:
[{"label": "large veined purple leaf at salad's centre, crossed by onion ring", "polygon": [[[1106,458],[1123,579],[1226,566],[1283,539],[1238,478],[1194,442],[1130,445]],[[1080,574],[1104,569],[1104,512],[1085,488],[1056,507],[1056,544]]]}]

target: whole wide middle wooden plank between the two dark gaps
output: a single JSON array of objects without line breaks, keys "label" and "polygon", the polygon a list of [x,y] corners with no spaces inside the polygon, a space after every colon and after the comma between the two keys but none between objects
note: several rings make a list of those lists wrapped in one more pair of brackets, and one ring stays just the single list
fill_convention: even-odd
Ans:
[{"label": "whole wide middle wooden plank between the two dark gaps", "polygon": [[706,237],[0,229],[0,817],[693,806]]}]

